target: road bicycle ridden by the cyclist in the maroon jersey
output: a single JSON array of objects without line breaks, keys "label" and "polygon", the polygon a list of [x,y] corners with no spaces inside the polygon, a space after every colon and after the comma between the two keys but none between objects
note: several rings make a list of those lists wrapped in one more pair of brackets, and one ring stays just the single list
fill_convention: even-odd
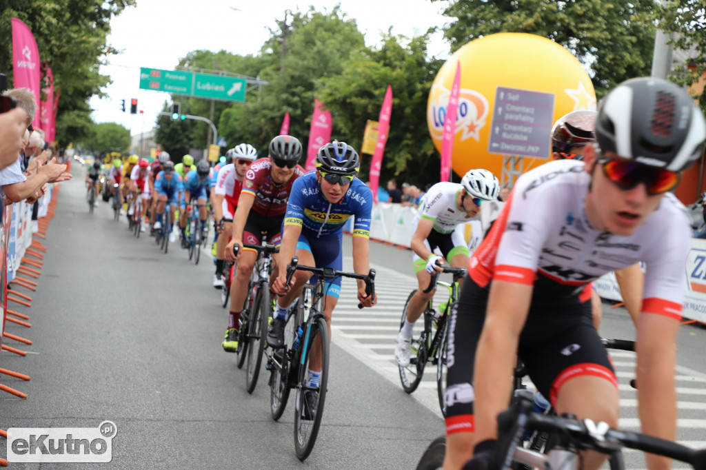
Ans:
[{"label": "road bicycle ridden by the cyclist in the maroon jersey", "polygon": [[[262,245],[243,243],[243,248],[258,252],[258,258],[250,277],[248,296],[240,314],[240,329],[238,335],[238,368],[246,367],[246,390],[252,393],[258,382],[260,366],[263,359],[265,335],[272,317],[273,304],[270,299],[270,275],[272,274],[274,253],[280,248],[263,241]],[[238,255],[240,246],[233,246],[233,254]],[[225,286],[224,286],[225,287]]]}]

